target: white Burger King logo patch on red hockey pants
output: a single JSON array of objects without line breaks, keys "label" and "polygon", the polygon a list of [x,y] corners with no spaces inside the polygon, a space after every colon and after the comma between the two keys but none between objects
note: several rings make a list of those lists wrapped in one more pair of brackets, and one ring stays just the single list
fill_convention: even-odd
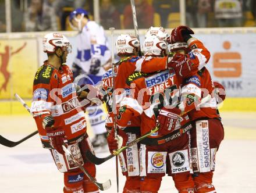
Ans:
[{"label": "white Burger King logo patch on red hockey pants", "polygon": [[164,173],[167,152],[148,152],[148,173]]}]

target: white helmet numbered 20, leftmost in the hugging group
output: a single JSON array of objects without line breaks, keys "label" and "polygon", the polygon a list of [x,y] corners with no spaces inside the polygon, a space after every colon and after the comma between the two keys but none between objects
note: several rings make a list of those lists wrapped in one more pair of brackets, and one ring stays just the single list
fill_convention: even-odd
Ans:
[{"label": "white helmet numbered 20, leftmost in the hugging group", "polygon": [[138,39],[130,34],[121,34],[116,39],[116,53],[118,56],[132,55],[140,47]]}]

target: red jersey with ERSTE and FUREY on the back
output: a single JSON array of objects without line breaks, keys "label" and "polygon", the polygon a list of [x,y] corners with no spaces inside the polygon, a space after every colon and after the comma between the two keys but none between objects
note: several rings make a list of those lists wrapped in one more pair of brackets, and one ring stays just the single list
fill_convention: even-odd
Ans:
[{"label": "red jersey with ERSTE and FUREY on the back", "polygon": [[[172,107],[175,107],[177,105],[180,80],[173,70],[163,70],[154,74],[136,72],[130,76],[129,80],[130,85],[136,85],[134,89],[131,85],[130,89],[130,96],[134,96],[124,98],[120,102],[120,106],[125,106],[135,116],[141,115],[141,135],[143,135],[152,130],[152,128],[155,128],[159,110],[163,106],[166,107],[172,104]],[[120,116],[122,116],[122,113]],[[125,122],[127,120],[121,117],[118,123],[125,124],[122,121]],[[180,117],[176,129],[187,122],[189,122],[187,115]],[[161,137],[161,135],[154,133],[151,137]]]}]

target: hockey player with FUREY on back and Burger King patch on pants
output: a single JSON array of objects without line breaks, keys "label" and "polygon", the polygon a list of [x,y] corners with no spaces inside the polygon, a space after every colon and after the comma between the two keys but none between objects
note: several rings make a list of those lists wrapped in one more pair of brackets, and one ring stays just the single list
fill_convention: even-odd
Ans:
[{"label": "hockey player with FUREY on back and Burger King patch on pants", "polygon": [[[166,42],[156,36],[148,37],[143,44],[145,56],[163,56],[166,49]],[[134,97],[126,97],[120,102],[122,110],[119,109],[118,125],[124,127],[130,117],[140,115],[141,134],[145,134],[156,126],[159,109],[166,105],[170,107],[169,104],[173,103],[172,99],[180,81],[173,70],[134,74],[138,74],[130,80],[130,85],[136,85],[134,89],[130,89],[130,95],[133,93]],[[141,192],[158,192],[162,177],[166,173],[166,163],[169,166],[168,174],[173,177],[179,192],[194,190],[194,181],[190,174],[189,135],[186,133],[191,126],[180,128],[180,124],[183,126],[188,121],[187,115],[184,115],[180,117],[178,126],[169,133],[154,133],[141,142]],[[175,160],[176,165],[172,165],[171,159]],[[182,164],[182,167],[179,167],[179,164]]]}]

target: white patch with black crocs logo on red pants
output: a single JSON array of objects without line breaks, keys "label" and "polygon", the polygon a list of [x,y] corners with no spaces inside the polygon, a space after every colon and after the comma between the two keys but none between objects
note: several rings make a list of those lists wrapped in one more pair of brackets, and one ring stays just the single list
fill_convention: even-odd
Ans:
[{"label": "white patch with black crocs logo on red pants", "polygon": [[187,150],[169,153],[172,174],[190,171],[189,153]]}]

